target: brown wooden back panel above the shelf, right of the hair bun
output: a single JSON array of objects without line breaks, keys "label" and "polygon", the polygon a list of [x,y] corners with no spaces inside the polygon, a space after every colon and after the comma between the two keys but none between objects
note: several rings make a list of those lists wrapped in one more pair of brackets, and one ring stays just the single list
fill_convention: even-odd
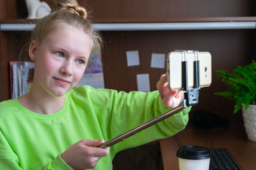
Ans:
[{"label": "brown wooden back panel above the shelf, right of the hair bun", "polygon": [[80,0],[95,18],[237,17],[255,15],[253,0]]}]

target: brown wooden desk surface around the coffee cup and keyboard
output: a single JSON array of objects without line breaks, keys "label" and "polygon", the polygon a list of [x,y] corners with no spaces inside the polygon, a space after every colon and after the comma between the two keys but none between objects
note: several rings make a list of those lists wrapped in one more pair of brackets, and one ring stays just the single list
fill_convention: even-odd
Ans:
[{"label": "brown wooden desk surface around the coffee cup and keyboard", "polygon": [[178,170],[176,155],[179,146],[197,145],[227,148],[244,170],[256,169],[256,142],[249,141],[243,120],[230,121],[229,127],[196,129],[191,123],[178,134],[160,141],[164,170]]}]

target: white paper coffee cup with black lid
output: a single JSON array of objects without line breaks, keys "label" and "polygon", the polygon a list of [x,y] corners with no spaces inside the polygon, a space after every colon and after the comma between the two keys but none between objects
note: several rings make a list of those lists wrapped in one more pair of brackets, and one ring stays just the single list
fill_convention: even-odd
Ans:
[{"label": "white paper coffee cup with black lid", "polygon": [[180,170],[209,170],[211,154],[202,146],[180,146],[176,153]]}]

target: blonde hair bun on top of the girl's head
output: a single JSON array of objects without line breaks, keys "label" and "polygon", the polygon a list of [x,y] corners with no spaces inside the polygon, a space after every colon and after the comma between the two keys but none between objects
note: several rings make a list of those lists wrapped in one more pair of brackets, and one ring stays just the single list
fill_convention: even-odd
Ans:
[{"label": "blonde hair bun on top of the girl's head", "polygon": [[58,10],[68,10],[72,13],[76,13],[82,18],[86,18],[87,12],[83,6],[79,6],[76,0],[64,0],[64,1],[55,1],[54,6],[52,7],[52,11]]}]

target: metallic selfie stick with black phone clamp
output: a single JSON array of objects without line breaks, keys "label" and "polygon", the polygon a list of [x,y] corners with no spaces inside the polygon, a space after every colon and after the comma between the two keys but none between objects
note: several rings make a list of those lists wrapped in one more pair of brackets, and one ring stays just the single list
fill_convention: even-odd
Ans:
[{"label": "metallic selfie stick with black phone clamp", "polygon": [[161,115],[158,115],[155,118],[152,118],[151,120],[148,120],[147,122],[138,125],[137,127],[134,127],[130,131],[125,132],[124,134],[120,134],[116,136],[113,139],[110,139],[109,141],[106,141],[106,143],[103,143],[100,145],[100,148],[108,148],[112,145],[115,145],[116,143],[136,134],[137,132],[142,131],[143,129],[146,129],[147,127],[150,127],[151,125],[156,124],[157,122],[160,122],[161,120],[164,120],[168,117],[171,117],[175,113],[179,113],[180,111],[188,108],[188,106],[192,106],[198,103],[198,97],[199,97],[199,90],[200,90],[200,74],[199,74],[199,60],[198,60],[198,51],[196,51],[197,54],[197,60],[194,62],[194,79],[196,82],[195,87],[193,89],[188,89],[188,64],[186,61],[186,52],[184,52],[184,61],[182,61],[182,84],[184,87],[184,90],[187,92],[184,94],[184,101],[183,103],[180,103],[177,108],[174,108],[172,110],[166,111],[165,113],[162,113]]}]

